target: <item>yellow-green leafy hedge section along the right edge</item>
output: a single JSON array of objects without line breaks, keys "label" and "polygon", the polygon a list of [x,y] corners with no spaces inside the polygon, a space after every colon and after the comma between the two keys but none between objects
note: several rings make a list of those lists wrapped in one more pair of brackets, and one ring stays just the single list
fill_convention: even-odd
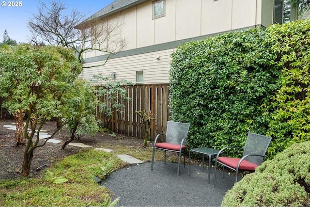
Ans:
[{"label": "yellow-green leafy hedge section along the right edge", "polygon": [[271,51],[281,68],[279,90],[270,100],[267,135],[270,154],[310,137],[310,20],[274,25],[267,29]]}]

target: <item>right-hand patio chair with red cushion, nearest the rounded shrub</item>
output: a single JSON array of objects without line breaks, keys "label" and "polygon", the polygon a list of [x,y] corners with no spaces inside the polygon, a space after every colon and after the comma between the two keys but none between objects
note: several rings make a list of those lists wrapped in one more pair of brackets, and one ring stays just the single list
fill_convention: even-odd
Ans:
[{"label": "right-hand patio chair with red cushion, nearest the rounded shrub", "polygon": [[[262,164],[270,141],[271,137],[249,132],[244,148],[227,146],[221,149],[217,153],[217,158],[215,161],[214,186],[216,181],[217,163],[223,165],[223,174],[224,166],[235,171],[235,182],[237,182],[238,171],[255,171],[255,168]],[[219,157],[219,155],[225,153],[224,151],[228,148],[242,149],[242,158]]]}]

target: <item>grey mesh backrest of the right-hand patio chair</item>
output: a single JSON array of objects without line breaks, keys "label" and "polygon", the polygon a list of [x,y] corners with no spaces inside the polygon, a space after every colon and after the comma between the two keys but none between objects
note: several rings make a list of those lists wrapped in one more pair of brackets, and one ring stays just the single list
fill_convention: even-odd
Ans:
[{"label": "grey mesh backrest of the right-hand patio chair", "polygon": [[[243,151],[243,156],[246,156],[249,154],[264,156],[269,147],[270,141],[271,141],[271,137],[249,132],[246,145]],[[257,165],[261,165],[263,162],[263,157],[249,156],[246,158],[246,160],[248,160],[249,162],[255,163]]]}]

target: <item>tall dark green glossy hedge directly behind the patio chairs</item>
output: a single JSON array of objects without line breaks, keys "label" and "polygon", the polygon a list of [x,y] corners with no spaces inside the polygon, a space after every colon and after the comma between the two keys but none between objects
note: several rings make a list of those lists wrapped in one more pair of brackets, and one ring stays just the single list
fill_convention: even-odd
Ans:
[{"label": "tall dark green glossy hedge directly behind the patio chairs", "polygon": [[276,90],[279,70],[263,30],[228,32],[172,53],[172,120],[191,124],[188,148],[240,146],[248,131],[265,133],[259,110]]}]

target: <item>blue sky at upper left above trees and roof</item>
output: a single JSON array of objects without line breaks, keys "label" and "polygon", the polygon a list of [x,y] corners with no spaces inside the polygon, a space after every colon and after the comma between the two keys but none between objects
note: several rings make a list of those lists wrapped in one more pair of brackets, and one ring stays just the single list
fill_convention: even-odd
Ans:
[{"label": "blue sky at upper left above trees and roof", "polygon": [[[41,0],[48,4],[50,0]],[[114,0],[62,0],[71,12],[77,10],[86,17],[92,16],[102,8],[109,5]],[[18,2],[18,6],[16,6]],[[29,42],[31,33],[27,27],[28,20],[37,14],[40,0],[0,0],[0,42],[3,41],[4,30],[7,30],[12,40],[19,42]],[[15,4],[15,6],[13,6]],[[19,6],[19,4],[21,4]],[[11,6],[9,6],[11,5]]]}]

